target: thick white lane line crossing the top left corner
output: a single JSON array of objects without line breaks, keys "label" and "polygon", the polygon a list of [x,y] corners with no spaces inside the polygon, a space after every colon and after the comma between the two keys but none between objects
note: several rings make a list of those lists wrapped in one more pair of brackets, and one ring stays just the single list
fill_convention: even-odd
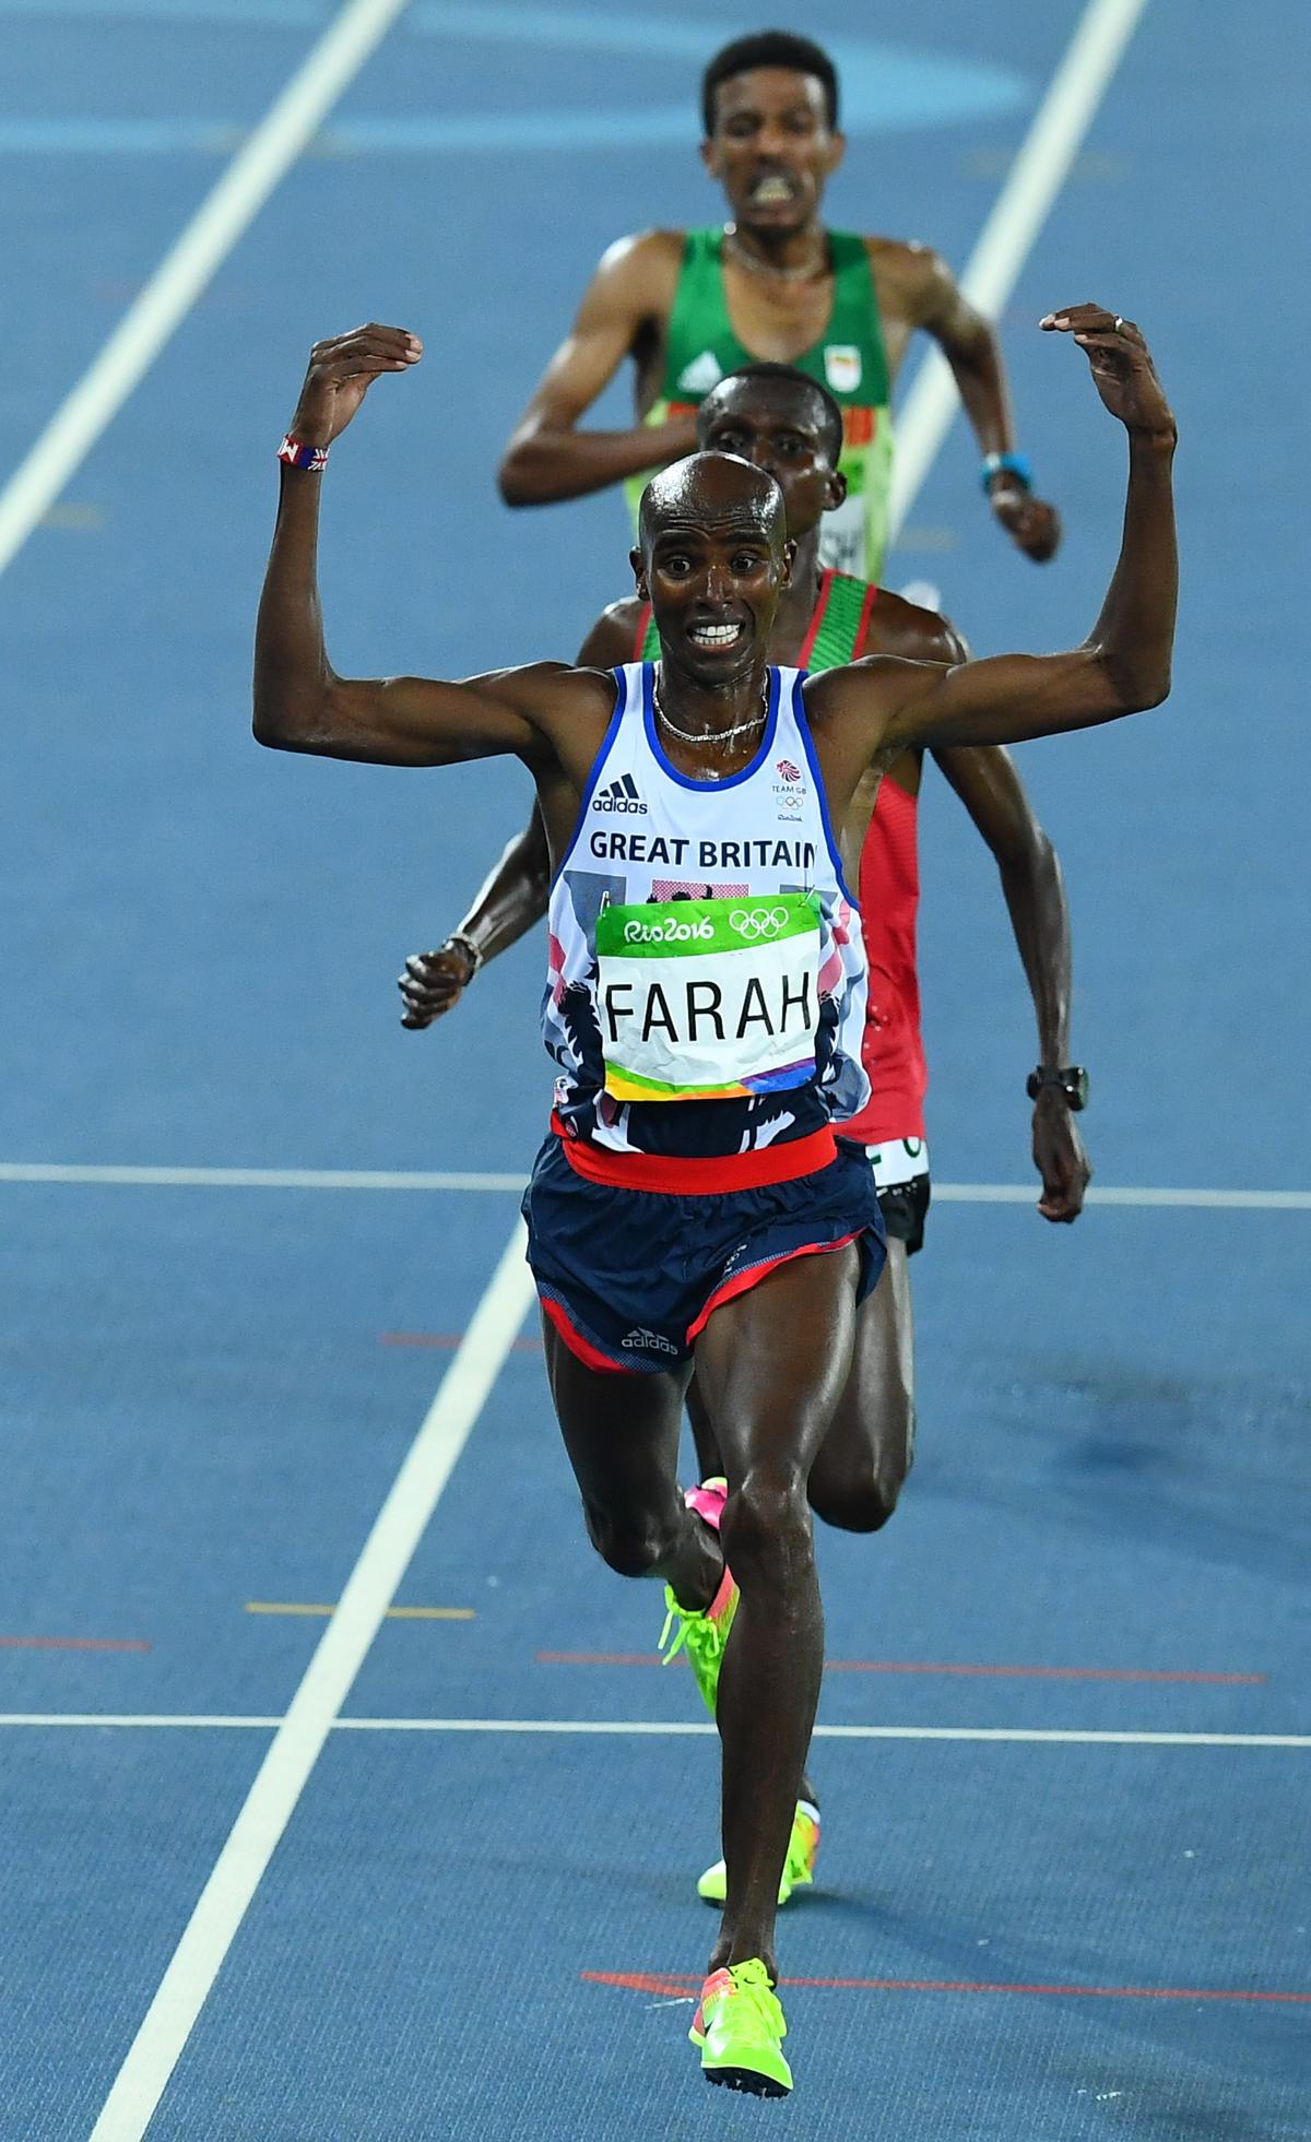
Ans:
[{"label": "thick white lane line crossing the top left corner", "polygon": [[227,165],[146,289],[0,493],[0,572],[81,465],[210,276],[287,176],[407,0],[349,0]]}]

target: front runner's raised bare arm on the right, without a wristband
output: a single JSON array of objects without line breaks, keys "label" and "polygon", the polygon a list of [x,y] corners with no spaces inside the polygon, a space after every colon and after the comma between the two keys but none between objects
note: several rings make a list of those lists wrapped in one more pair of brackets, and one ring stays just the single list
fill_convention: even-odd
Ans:
[{"label": "front runner's raised bare arm on the right, without a wristband", "polygon": [[[902,664],[831,670],[835,705],[865,705],[878,756],[921,743],[1022,743],[1092,728],[1170,692],[1178,595],[1174,544],[1174,416],[1137,328],[1095,304],[1048,313],[1048,332],[1071,334],[1088,353],[1101,401],[1129,433],[1125,533],[1101,615],[1082,647],[1060,655],[994,655],[915,675]],[[878,675],[883,673],[883,675]],[[825,677],[816,679],[820,688]]]}]

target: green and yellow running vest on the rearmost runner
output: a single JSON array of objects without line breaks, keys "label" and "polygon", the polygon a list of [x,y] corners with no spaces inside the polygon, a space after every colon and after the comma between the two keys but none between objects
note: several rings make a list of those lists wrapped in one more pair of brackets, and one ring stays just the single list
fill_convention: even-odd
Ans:
[{"label": "green and yellow running vest on the rearmost runner", "polygon": [[[829,231],[833,311],[818,343],[793,364],[820,379],[842,407],[842,461],[846,503],[825,516],[820,563],[863,580],[878,580],[887,546],[893,435],[887,351],[865,240]],[[739,343],[724,298],[724,231],[688,231],[683,270],[666,330],[664,381],[647,424],[692,416],[726,373],[758,362]],[[623,486],[634,514],[653,471]]]}]

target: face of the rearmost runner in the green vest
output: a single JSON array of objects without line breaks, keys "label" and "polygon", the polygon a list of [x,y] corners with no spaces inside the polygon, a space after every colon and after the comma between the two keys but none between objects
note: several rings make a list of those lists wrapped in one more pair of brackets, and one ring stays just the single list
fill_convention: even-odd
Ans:
[{"label": "face of the rearmost runner in the green vest", "polygon": [[788,66],[752,66],[715,90],[715,131],[700,154],[737,227],[784,238],[818,216],[844,146],[829,129],[823,81]]}]

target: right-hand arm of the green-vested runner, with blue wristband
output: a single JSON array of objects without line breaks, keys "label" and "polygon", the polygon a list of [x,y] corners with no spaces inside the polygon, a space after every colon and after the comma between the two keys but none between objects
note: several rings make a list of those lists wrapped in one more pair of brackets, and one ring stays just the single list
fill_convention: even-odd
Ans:
[{"label": "right-hand arm of the green-vested runner, with blue wristband", "polygon": [[1024,461],[1015,454],[1011,394],[996,330],[970,304],[938,253],[917,248],[917,261],[919,326],[932,334],[951,366],[983,467],[992,456],[1005,456],[1005,465],[994,467],[985,482],[992,512],[1018,548],[1043,565],[1060,544],[1060,516],[1033,495]]}]

